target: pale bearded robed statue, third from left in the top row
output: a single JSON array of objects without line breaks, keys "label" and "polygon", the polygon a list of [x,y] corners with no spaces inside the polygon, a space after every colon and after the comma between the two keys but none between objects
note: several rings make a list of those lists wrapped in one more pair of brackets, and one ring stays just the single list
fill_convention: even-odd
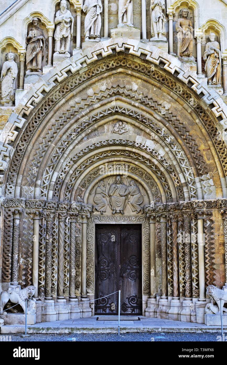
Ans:
[{"label": "pale bearded robed statue, third from left in the top row", "polygon": [[74,19],[69,10],[67,10],[67,1],[60,2],[60,9],[56,12],[54,24],[56,25],[55,39],[55,55],[64,54],[70,57],[70,41],[73,37]]}]

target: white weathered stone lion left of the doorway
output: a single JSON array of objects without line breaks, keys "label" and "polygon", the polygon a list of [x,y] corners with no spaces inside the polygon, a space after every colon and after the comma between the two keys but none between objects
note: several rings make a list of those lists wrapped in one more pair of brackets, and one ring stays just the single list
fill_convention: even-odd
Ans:
[{"label": "white weathered stone lion left of the doorway", "polygon": [[9,287],[7,291],[1,292],[0,295],[0,313],[3,312],[5,304],[10,300],[12,303],[20,304],[25,313],[25,300],[30,299],[35,294],[33,285],[24,289]]}]

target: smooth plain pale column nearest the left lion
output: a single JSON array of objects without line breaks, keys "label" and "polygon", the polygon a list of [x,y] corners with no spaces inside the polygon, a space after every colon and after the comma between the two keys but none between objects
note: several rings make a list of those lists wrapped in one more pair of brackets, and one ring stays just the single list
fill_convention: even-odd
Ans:
[{"label": "smooth plain pale column nearest the left lion", "polygon": [[33,211],[33,257],[32,257],[32,285],[35,287],[34,297],[38,298],[39,277],[39,211]]}]

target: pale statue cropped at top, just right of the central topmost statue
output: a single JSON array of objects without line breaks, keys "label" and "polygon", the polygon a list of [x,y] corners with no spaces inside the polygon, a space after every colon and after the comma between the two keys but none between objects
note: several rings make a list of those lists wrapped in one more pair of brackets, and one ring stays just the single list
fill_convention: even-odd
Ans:
[{"label": "pale statue cropped at top, just right of the central topmost statue", "polygon": [[162,39],[166,41],[165,29],[165,0],[150,1],[151,35],[152,40]]}]

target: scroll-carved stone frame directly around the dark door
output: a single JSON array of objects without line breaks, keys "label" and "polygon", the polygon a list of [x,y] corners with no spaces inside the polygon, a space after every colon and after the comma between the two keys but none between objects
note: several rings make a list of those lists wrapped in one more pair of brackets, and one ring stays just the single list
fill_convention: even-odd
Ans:
[{"label": "scroll-carved stone frame directly around the dark door", "polygon": [[[98,215],[91,214],[87,220],[86,291],[90,299],[95,295],[95,224],[141,224],[142,225],[142,313],[145,315],[150,295],[150,221],[146,215]],[[155,242],[153,242],[155,245]],[[94,304],[92,305],[94,315]]]}]

